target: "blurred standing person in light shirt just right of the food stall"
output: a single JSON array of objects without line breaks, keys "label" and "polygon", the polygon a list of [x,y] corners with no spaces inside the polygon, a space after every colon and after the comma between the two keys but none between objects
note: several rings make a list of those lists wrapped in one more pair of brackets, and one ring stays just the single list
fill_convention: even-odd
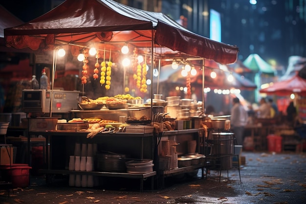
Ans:
[{"label": "blurred standing person in light shirt just right of the food stall", "polygon": [[248,114],[241,105],[239,98],[233,98],[233,107],[231,109],[231,129],[235,134],[238,145],[243,144],[244,126],[247,124]]}]

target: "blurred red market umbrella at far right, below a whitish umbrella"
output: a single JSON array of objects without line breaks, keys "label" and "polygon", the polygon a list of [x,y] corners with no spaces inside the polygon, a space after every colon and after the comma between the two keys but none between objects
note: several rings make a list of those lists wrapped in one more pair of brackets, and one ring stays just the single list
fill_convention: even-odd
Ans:
[{"label": "blurred red market umbrella at far right, below a whitish umbrella", "polygon": [[291,93],[306,96],[306,79],[296,74],[292,78],[276,82],[272,86],[260,90],[260,92],[279,96],[286,96]]}]

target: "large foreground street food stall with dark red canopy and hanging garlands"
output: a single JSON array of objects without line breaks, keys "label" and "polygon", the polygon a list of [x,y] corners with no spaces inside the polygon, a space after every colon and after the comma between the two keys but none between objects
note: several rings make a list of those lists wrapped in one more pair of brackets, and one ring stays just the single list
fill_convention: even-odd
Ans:
[{"label": "large foreground street food stall with dark red canopy and hanging garlands", "polygon": [[[67,121],[52,117],[51,110],[50,117],[29,118],[29,137],[42,135],[47,140],[42,173],[69,175],[69,185],[87,187],[96,185],[94,177],[139,179],[142,190],[147,178],[151,179],[153,187],[155,175],[175,175],[204,168],[203,155],[197,157],[201,159],[200,163],[178,165],[177,153],[180,156],[203,154],[200,145],[203,129],[201,125],[191,125],[190,118],[180,121],[170,118],[169,123],[165,122],[165,101],[158,94],[153,99],[153,87],[156,85],[143,86],[149,72],[146,67],[151,67],[153,81],[155,65],[160,65],[161,61],[172,62],[174,58],[197,58],[202,65],[205,59],[229,64],[237,59],[236,46],[194,34],[162,13],[131,8],[112,0],[66,0],[37,19],[5,29],[4,36],[7,46],[53,50],[51,95],[55,91],[56,53],[61,48],[69,49],[75,57],[79,54],[85,57],[80,63],[83,69],[80,83],[83,87],[87,86],[88,77],[94,77],[96,83],[106,90],[115,89],[111,78],[116,78],[112,70],[117,68],[122,70],[125,88],[126,81],[130,79],[127,75],[131,73],[125,69],[129,66],[121,66],[119,60],[123,58],[121,48],[127,45],[133,50],[133,54],[129,55],[133,60],[131,72],[139,73],[134,78],[135,87],[128,88],[150,93],[152,99],[147,104],[135,102],[143,98],[123,94],[125,89],[96,99],[87,98],[82,92],[80,109],[69,111],[71,116]],[[91,65],[93,72],[89,73],[89,50],[92,47],[96,53]],[[145,56],[143,63],[136,61],[139,55]],[[203,71],[204,68],[202,66]],[[53,97],[50,104],[52,100]],[[201,106],[204,107],[204,100]],[[174,124],[176,128],[171,127]],[[189,141],[196,141],[192,149]],[[162,143],[165,144],[163,147]],[[166,167],[160,168],[162,163],[159,158],[167,164]],[[123,165],[112,162],[114,160],[126,162]],[[117,166],[109,166],[114,163]],[[122,165],[123,169],[119,168]]]}]

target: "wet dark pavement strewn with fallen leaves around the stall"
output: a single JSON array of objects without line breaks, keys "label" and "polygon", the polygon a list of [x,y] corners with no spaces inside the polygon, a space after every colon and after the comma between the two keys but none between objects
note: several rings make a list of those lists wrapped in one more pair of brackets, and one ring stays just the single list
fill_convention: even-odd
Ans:
[{"label": "wet dark pavement strewn with fallen leaves around the stall", "polygon": [[[46,184],[32,177],[31,185],[0,192],[1,204],[306,204],[306,153],[242,152],[245,165],[207,179],[182,174],[168,177],[163,189],[150,189],[145,181],[104,180],[104,187],[69,187],[64,178]],[[157,184],[156,181],[155,185]]]}]

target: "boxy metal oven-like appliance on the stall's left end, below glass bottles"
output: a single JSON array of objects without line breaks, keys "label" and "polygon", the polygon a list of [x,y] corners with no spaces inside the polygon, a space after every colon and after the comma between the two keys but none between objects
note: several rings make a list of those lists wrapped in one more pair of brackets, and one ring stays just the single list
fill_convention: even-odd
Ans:
[{"label": "boxy metal oven-like appliance on the stall's left end, below glass bottles", "polygon": [[[24,113],[50,113],[51,90],[22,90]],[[80,91],[53,90],[52,113],[78,109]]]}]

